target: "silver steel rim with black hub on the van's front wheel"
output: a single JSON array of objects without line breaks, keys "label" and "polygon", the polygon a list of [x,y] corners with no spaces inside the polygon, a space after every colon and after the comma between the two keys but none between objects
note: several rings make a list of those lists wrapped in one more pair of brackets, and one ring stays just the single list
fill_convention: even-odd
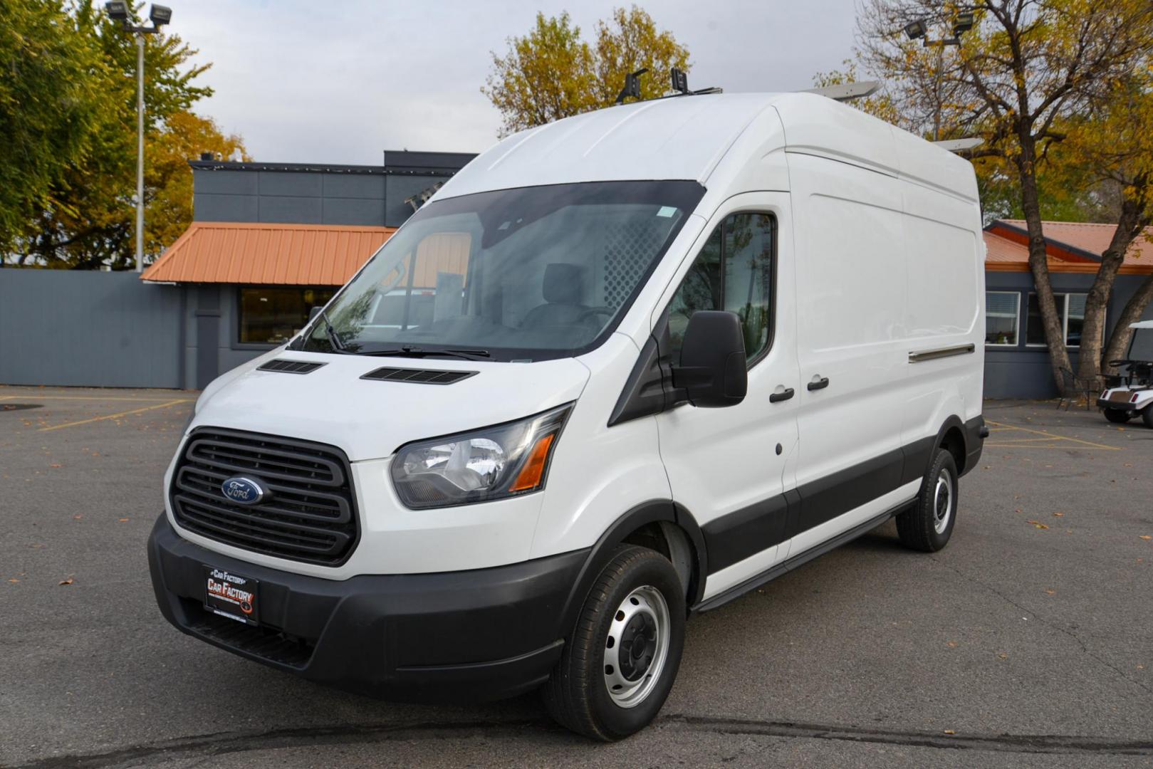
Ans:
[{"label": "silver steel rim with black hub on the van's front wheel", "polygon": [[621,708],[643,702],[661,678],[671,625],[664,596],[648,585],[617,608],[604,641],[604,686]]}]

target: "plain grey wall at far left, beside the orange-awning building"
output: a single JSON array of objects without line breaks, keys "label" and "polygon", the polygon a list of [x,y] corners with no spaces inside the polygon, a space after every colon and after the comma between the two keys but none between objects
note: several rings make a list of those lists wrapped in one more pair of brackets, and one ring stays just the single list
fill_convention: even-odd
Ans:
[{"label": "plain grey wall at far left, beside the orange-awning building", "polygon": [[135,272],[0,270],[0,383],[180,387],[183,291]]}]

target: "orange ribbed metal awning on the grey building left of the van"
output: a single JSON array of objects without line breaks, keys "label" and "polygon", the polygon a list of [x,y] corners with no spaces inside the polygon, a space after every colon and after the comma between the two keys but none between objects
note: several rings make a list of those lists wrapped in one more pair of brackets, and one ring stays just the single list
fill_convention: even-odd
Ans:
[{"label": "orange ribbed metal awning on the grey building left of the van", "polygon": [[194,221],[141,279],[342,286],[394,232],[395,227]]}]

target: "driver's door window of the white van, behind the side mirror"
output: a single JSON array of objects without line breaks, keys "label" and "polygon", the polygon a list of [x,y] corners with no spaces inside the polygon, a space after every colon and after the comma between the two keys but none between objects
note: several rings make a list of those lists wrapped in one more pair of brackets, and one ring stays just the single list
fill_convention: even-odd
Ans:
[{"label": "driver's door window of the white van, behind the side mirror", "polygon": [[709,235],[669,302],[668,352],[679,360],[688,318],[698,310],[728,310],[740,318],[749,364],[773,344],[774,235],[768,213],[733,213]]}]

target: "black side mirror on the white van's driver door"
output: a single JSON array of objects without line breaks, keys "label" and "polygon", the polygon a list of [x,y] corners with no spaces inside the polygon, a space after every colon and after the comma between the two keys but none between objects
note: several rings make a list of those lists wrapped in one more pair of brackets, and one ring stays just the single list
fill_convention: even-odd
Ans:
[{"label": "black side mirror on the white van's driver door", "polygon": [[740,319],[722,310],[698,310],[688,319],[680,348],[680,365],[672,368],[672,384],[684,390],[693,406],[722,408],[745,400],[748,370]]}]

